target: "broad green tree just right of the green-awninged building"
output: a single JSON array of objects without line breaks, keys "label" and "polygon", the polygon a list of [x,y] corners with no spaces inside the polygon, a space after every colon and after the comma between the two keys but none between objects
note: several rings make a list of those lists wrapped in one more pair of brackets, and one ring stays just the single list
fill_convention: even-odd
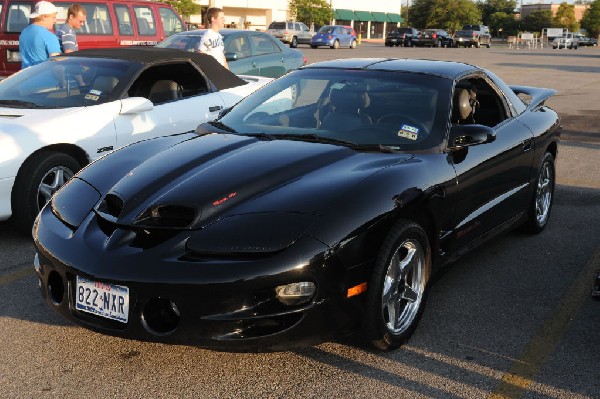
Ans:
[{"label": "broad green tree just right of the green-awninged building", "polygon": [[408,11],[412,26],[442,28],[449,32],[481,22],[481,10],[471,0],[415,0]]}]

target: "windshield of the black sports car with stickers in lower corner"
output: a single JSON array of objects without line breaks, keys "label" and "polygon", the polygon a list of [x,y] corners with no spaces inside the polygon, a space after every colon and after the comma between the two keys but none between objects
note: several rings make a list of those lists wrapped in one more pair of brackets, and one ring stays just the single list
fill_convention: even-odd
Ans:
[{"label": "windshield of the black sports car with stickers in lower corner", "polygon": [[416,73],[308,68],[242,100],[218,127],[269,138],[294,135],[395,150],[428,149],[445,137],[451,84]]}]

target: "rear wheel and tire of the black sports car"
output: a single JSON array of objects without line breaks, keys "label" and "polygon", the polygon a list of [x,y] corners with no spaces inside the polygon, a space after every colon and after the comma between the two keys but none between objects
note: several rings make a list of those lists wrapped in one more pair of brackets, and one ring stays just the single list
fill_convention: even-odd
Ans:
[{"label": "rear wheel and tire of the black sports car", "polygon": [[555,179],[554,157],[547,152],[542,158],[527,221],[523,225],[524,231],[538,234],[546,228],[554,202]]}]

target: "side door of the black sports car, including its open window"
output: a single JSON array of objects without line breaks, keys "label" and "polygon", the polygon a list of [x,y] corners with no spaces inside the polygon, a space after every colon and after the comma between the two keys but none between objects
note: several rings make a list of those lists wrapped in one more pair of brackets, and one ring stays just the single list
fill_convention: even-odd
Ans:
[{"label": "side door of the black sports car, including its open window", "polygon": [[[460,124],[492,127],[496,138],[453,152],[458,181],[455,250],[522,212],[531,192],[528,184],[534,156],[531,131],[510,114],[508,101],[489,79],[465,79],[457,85],[461,86],[473,90],[476,99],[475,113]],[[452,122],[456,123],[454,115]]]}]

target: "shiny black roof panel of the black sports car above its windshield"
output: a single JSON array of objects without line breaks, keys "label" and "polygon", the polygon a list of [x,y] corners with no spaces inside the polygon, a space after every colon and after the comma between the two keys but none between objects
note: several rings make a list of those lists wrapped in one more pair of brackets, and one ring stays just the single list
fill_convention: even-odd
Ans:
[{"label": "shiny black roof panel of the black sports car above its windshield", "polygon": [[482,70],[474,65],[465,64],[462,62],[417,60],[407,58],[347,58],[317,62],[302,67],[302,69],[311,68],[364,69],[427,73],[449,79],[457,79],[465,74]]}]

